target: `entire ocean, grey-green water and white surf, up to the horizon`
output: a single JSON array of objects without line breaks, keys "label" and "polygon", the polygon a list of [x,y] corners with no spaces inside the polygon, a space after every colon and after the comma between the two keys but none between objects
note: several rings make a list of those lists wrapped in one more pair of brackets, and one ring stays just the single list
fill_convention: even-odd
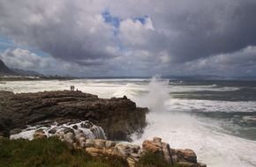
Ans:
[{"label": "entire ocean, grey-green water and white surf, up to the horizon", "polygon": [[[133,134],[140,144],[159,136],[174,149],[193,149],[209,167],[256,166],[256,81],[193,78],[119,78],[11,81],[14,92],[75,90],[99,98],[131,98],[147,106],[147,127]],[[255,121],[253,120],[255,119]]]}]

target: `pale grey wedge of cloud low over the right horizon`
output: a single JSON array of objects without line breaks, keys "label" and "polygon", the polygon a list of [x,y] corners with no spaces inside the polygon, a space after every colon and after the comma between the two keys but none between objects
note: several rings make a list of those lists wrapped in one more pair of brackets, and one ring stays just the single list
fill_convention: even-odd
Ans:
[{"label": "pale grey wedge of cloud low over the right horizon", "polygon": [[185,69],[206,74],[212,71],[221,76],[254,76],[256,71],[256,47],[245,47],[230,54],[217,54],[196,61],[186,62]]}]

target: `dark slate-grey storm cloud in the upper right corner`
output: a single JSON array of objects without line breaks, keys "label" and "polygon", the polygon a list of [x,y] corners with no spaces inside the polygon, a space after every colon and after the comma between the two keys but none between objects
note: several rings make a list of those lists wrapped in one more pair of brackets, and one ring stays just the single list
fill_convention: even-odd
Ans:
[{"label": "dark slate-grey storm cloud in the upper right corner", "polygon": [[171,42],[169,52],[176,55],[175,60],[186,62],[256,45],[255,16],[256,1],[246,0],[230,10],[219,6],[177,14],[169,23],[180,34]]}]

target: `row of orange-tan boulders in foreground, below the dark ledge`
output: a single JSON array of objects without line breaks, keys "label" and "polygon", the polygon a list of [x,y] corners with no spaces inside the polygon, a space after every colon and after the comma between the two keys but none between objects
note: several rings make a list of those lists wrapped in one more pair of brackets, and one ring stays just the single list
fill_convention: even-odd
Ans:
[{"label": "row of orange-tan boulders in foreground, below the dark ledge", "polygon": [[[34,135],[37,134],[34,133]],[[64,134],[64,136],[59,136],[59,138],[76,149],[84,149],[92,156],[121,157],[127,161],[130,167],[136,166],[139,158],[147,152],[162,156],[163,161],[168,164],[177,164],[182,167],[207,167],[206,164],[197,162],[197,156],[192,149],[171,149],[168,143],[162,142],[162,139],[158,137],[154,137],[153,141],[144,141],[142,147],[140,147],[130,143],[118,143],[102,139],[93,140],[82,136],[74,136],[74,134],[68,133]]]}]

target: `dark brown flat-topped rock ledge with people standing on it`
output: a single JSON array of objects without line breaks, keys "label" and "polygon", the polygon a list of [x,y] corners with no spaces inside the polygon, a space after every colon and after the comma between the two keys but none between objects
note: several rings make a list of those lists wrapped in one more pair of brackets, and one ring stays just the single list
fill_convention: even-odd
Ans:
[{"label": "dark brown flat-topped rock ledge with people standing on it", "polygon": [[28,125],[90,120],[104,129],[109,140],[127,141],[146,126],[146,113],[147,108],[126,97],[103,99],[81,91],[0,91],[0,135],[4,136]]}]

